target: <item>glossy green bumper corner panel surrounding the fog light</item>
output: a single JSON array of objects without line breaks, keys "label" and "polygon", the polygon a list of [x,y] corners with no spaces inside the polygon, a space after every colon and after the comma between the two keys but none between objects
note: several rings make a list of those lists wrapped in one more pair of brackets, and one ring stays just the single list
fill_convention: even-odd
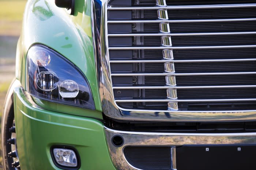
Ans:
[{"label": "glossy green bumper corner panel surrounding the fog light", "polygon": [[22,169],[58,169],[52,145],[75,147],[80,169],[115,169],[106,144],[103,124],[95,119],[45,111],[21,87],[14,90],[16,139]]}]

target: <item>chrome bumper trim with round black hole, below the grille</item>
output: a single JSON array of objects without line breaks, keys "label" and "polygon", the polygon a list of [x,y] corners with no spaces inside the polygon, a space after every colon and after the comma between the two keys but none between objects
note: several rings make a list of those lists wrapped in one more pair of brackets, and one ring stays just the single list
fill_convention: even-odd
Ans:
[{"label": "chrome bumper trim with round black hole, below the grille", "polygon": [[[124,148],[127,146],[182,146],[182,145],[252,145],[256,144],[256,133],[150,133],[129,132],[105,128],[106,141],[114,166],[120,170],[136,169],[130,166],[124,157]],[[115,147],[112,137],[120,135],[124,145]],[[172,151],[174,155],[174,150]],[[174,156],[173,169],[175,166]]]}]

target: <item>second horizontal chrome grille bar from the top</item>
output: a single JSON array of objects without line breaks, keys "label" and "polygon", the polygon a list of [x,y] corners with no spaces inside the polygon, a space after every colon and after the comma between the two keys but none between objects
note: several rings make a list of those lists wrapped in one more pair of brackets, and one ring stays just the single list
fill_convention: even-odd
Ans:
[{"label": "second horizontal chrome grille bar from the top", "polygon": [[108,20],[107,23],[201,23],[201,22],[231,22],[255,21],[256,18],[238,19],[203,19],[203,20]]}]

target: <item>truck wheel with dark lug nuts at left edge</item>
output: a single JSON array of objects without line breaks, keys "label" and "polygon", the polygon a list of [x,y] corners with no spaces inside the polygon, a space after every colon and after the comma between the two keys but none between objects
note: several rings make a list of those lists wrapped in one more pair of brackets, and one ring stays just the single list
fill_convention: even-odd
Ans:
[{"label": "truck wheel with dark lug nuts at left edge", "polygon": [[7,95],[1,124],[2,155],[5,170],[20,169],[16,145],[13,96]]}]

